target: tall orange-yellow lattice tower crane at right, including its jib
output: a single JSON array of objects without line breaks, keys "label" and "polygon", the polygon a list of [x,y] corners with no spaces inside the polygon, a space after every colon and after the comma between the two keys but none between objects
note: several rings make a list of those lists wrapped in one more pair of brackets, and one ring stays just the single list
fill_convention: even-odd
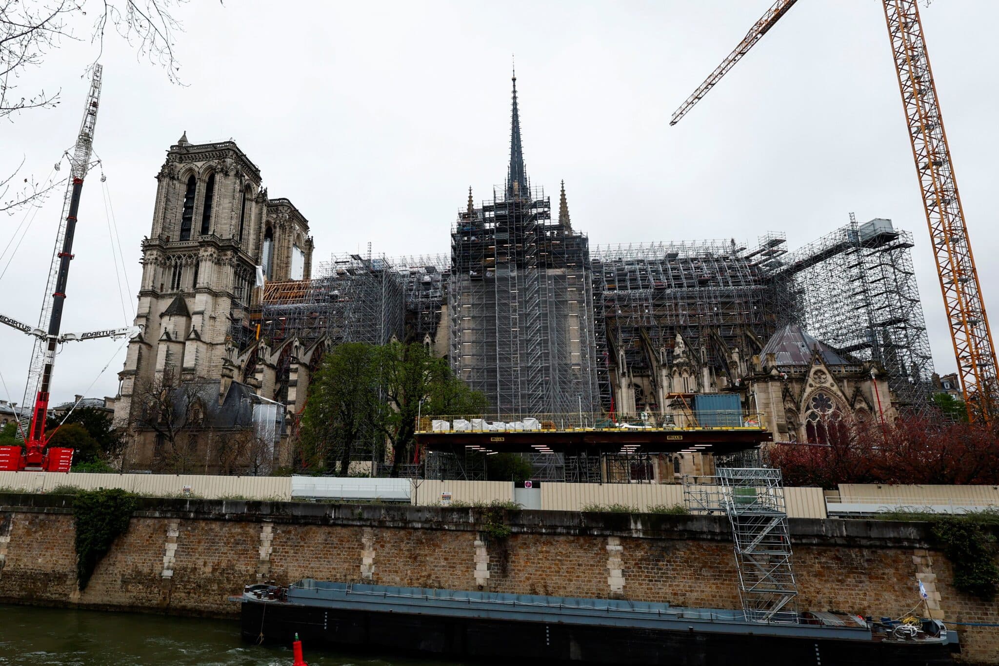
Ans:
[{"label": "tall orange-yellow lattice tower crane at right, including its jib", "polygon": [[[703,99],[796,2],[775,2],[753,24],[738,46],[673,113],[669,125],[678,123]],[[985,316],[985,303],[971,253],[964,209],[957,192],[919,7],[917,0],[881,2],[964,402],[971,420],[988,422],[995,410],[996,390],[999,387],[996,382],[995,347]]]}]

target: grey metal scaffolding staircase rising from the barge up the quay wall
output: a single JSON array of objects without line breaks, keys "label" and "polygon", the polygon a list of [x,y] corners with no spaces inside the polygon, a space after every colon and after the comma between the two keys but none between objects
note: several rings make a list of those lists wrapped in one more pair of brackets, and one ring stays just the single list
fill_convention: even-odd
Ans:
[{"label": "grey metal scaffolding staircase rising from the barge up the quay wall", "polygon": [[797,586],[780,470],[719,467],[713,477],[686,477],[683,497],[691,513],[728,516],[746,619],[796,623]]}]

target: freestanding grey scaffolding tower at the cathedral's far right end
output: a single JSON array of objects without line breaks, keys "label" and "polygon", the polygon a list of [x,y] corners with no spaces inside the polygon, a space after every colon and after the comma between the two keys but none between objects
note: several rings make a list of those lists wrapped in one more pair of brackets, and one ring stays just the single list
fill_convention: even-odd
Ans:
[{"label": "freestanding grey scaffolding tower at the cathedral's far right end", "polygon": [[912,247],[912,234],[890,220],[858,225],[850,214],[849,225],[766,268],[799,300],[794,313],[778,305],[779,319],[800,324],[836,351],[874,361],[900,408],[920,411],[932,394],[933,357]]}]

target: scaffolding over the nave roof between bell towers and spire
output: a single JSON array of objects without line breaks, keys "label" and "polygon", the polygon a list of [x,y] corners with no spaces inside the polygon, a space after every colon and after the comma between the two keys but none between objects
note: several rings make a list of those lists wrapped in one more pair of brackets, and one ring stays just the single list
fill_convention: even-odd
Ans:
[{"label": "scaffolding over the nave roof between bell towers and spire", "polygon": [[[326,337],[331,344],[385,344],[403,339],[405,295],[400,275],[385,258],[334,255],[318,277],[269,283],[257,324],[260,336],[280,342]],[[251,319],[253,323],[253,319]]]}]

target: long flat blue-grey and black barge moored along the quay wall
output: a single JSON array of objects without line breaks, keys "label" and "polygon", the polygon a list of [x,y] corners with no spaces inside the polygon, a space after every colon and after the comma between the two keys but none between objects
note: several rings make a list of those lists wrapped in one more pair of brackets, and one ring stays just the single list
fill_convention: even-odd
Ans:
[{"label": "long flat blue-grey and black barge moored along the quay wall", "polygon": [[[248,585],[247,641],[374,648],[475,661],[705,666],[952,664],[957,635],[937,620],[814,612],[748,621],[742,611],[667,603],[392,587],[304,579]],[[785,615],[784,619],[788,619]]]}]

